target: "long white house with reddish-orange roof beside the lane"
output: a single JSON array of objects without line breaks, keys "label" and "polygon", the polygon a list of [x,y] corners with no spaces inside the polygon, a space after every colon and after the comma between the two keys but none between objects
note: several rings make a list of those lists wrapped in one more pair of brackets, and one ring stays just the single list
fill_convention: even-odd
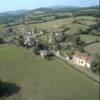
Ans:
[{"label": "long white house with reddish-orange roof beside the lane", "polygon": [[74,63],[82,67],[90,68],[94,65],[94,59],[83,53],[75,53],[72,60]]}]

